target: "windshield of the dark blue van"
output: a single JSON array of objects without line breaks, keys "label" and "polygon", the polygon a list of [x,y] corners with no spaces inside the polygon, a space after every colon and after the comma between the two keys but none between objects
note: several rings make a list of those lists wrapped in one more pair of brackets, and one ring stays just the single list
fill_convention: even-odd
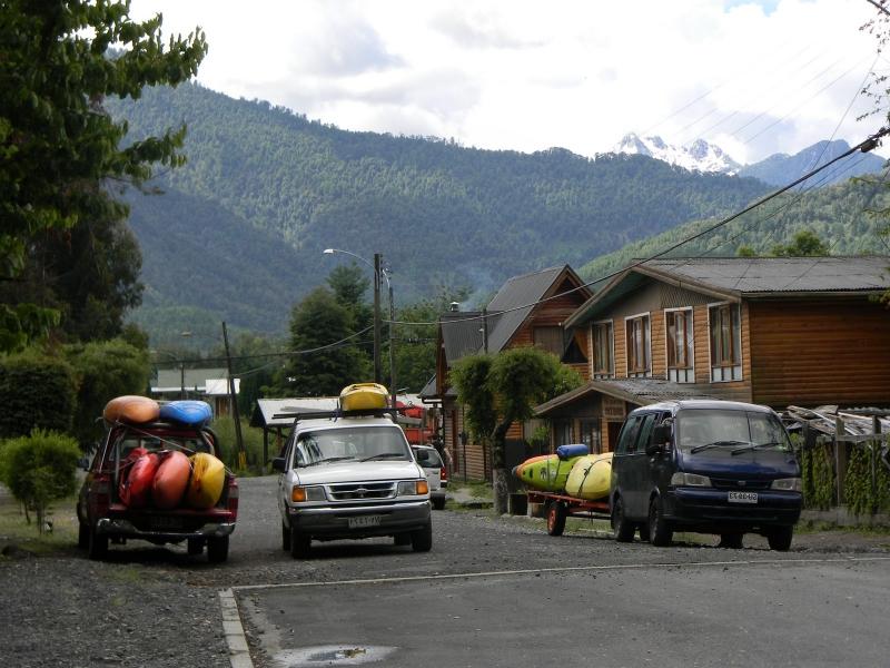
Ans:
[{"label": "windshield of the dark blue van", "polygon": [[791,450],[782,423],[772,413],[693,409],[675,419],[676,444],[690,453],[724,450],[738,454],[752,450]]}]

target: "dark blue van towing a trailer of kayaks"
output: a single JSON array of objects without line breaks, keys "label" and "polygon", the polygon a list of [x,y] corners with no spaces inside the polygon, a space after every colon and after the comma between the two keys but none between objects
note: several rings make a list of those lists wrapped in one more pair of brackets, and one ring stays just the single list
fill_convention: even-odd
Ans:
[{"label": "dark blue van towing a trailer of kayaks", "polygon": [[636,409],[612,460],[615,540],[666,546],[674,531],[745,533],[788,550],[803,503],[800,465],[779,416],[728,401],[672,401]]}]

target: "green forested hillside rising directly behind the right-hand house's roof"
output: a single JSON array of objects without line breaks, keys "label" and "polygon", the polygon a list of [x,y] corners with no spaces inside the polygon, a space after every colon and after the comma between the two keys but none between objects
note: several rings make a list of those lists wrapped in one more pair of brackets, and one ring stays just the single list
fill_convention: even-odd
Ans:
[{"label": "green forested hillside rising directly behind the right-hand house's roof", "polygon": [[[734,256],[742,246],[749,246],[758,255],[769,255],[774,245],[788,243],[800,230],[814,233],[828,245],[831,255],[888,255],[890,239],[881,230],[890,218],[878,213],[888,207],[890,191],[877,177],[871,181],[853,179],[808,193],[785,194],[683,244],[665,257]],[[587,281],[606,278],[632,261],[662,253],[716,223],[710,219],[679,225],[597,257],[581,267],[578,274]]]}]

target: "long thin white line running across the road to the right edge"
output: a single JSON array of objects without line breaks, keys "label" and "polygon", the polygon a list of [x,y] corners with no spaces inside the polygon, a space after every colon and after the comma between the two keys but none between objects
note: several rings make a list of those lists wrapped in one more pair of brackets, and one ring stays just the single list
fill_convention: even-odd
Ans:
[{"label": "long thin white line running across the road to the right edge", "polygon": [[[567,566],[558,568],[517,569],[503,571],[482,571],[469,573],[446,573],[434,576],[403,576],[395,578],[368,578],[359,580],[333,580],[326,582],[276,582],[273,584],[238,584],[231,592],[256,591],[259,589],[294,589],[303,587],[336,587],[343,584],[380,584],[386,582],[423,582],[435,580],[459,580],[469,578],[496,578],[501,576],[528,576],[535,573],[567,573],[590,571],[620,571],[643,570],[651,568],[708,568],[708,567],[738,567],[738,566],[783,566],[810,563],[856,563],[864,561],[890,561],[890,557],[833,557],[824,559],[753,559],[742,561],[686,561],[665,563],[621,563],[611,566]],[[220,593],[221,596],[221,593]]]}]

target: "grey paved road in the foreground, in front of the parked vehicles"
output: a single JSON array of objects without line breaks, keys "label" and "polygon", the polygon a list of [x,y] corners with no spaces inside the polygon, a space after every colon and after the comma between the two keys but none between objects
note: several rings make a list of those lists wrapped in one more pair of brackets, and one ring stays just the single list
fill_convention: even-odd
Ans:
[{"label": "grey paved road in the foreground, in front of the parked vehicles", "polygon": [[244,481],[230,563],[206,571],[235,584],[260,665],[888,662],[886,550],[657,549],[446,511],[428,554],[379,539],[297,561],[273,490]]}]

